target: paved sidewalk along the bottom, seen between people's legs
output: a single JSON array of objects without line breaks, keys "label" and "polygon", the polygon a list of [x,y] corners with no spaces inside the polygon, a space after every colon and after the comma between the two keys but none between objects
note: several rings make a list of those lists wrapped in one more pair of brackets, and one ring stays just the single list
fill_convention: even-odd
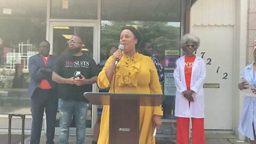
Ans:
[{"label": "paved sidewalk along the bottom, seen between people's legs", "polygon": [[[159,135],[159,137],[156,138],[156,144],[175,144],[176,143],[175,137],[164,138],[161,136],[162,135]],[[230,133],[207,133],[206,132],[205,137],[206,137],[206,144],[249,144],[248,142],[237,140],[237,137],[234,134],[230,134]],[[59,136],[56,135],[54,139],[55,144],[59,144],[58,140],[59,140]],[[42,134],[40,143],[45,143],[45,134]],[[70,135],[69,143],[70,144],[76,143],[75,135]],[[92,143],[92,136],[86,136],[85,144],[91,144],[91,143]],[[30,137],[25,139],[25,144],[30,144]]]}]

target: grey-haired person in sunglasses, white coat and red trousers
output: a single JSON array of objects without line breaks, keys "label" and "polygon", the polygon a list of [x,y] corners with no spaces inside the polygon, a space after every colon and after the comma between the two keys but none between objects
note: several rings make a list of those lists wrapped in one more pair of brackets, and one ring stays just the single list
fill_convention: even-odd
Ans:
[{"label": "grey-haired person in sunglasses, white coat and red trousers", "polygon": [[174,82],[177,87],[175,116],[177,117],[177,144],[189,143],[189,118],[192,121],[192,143],[204,144],[204,90],[205,62],[195,55],[200,39],[192,34],[181,38],[185,55],[176,61]]}]

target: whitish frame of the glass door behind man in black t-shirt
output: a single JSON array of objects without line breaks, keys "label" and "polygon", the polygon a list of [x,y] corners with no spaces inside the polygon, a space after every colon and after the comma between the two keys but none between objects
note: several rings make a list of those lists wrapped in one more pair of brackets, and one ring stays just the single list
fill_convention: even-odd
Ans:
[{"label": "whitish frame of the glass door behind man in black t-shirt", "polygon": [[[99,45],[99,26],[97,21],[86,21],[86,20],[61,20],[61,21],[49,21],[47,22],[46,40],[51,45],[50,54],[53,53],[53,26],[69,26],[69,27],[93,27],[93,59],[95,62],[100,60],[100,45]],[[92,92],[98,92],[97,84],[93,84]],[[97,106],[92,105],[92,127],[86,128],[86,135],[92,135],[94,125],[97,118]],[[44,132],[46,133],[46,118],[44,118]],[[55,134],[59,134],[59,127],[55,127]],[[69,130],[69,135],[76,134],[76,129],[72,128]]]}]

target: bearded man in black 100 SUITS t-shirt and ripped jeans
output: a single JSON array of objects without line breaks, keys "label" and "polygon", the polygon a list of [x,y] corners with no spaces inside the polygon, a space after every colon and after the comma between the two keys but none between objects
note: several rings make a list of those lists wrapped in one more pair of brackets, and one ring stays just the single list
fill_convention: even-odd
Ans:
[{"label": "bearded man in black 100 SUITS t-shirt and ripped jeans", "polygon": [[73,114],[77,129],[76,143],[84,143],[89,101],[83,97],[83,93],[92,91],[92,84],[97,81],[99,68],[92,58],[83,54],[81,38],[72,36],[68,41],[68,47],[69,53],[57,59],[52,73],[52,80],[59,83],[59,143],[68,143]]}]

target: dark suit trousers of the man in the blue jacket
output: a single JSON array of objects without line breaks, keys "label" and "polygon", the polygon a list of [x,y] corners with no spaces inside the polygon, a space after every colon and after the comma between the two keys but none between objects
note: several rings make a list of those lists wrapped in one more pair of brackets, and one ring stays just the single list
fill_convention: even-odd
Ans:
[{"label": "dark suit trousers of the man in the blue jacket", "polygon": [[31,97],[32,127],[30,144],[39,144],[43,124],[44,109],[46,114],[47,144],[52,144],[55,132],[55,119],[58,108],[57,94],[53,90],[37,88]]}]

